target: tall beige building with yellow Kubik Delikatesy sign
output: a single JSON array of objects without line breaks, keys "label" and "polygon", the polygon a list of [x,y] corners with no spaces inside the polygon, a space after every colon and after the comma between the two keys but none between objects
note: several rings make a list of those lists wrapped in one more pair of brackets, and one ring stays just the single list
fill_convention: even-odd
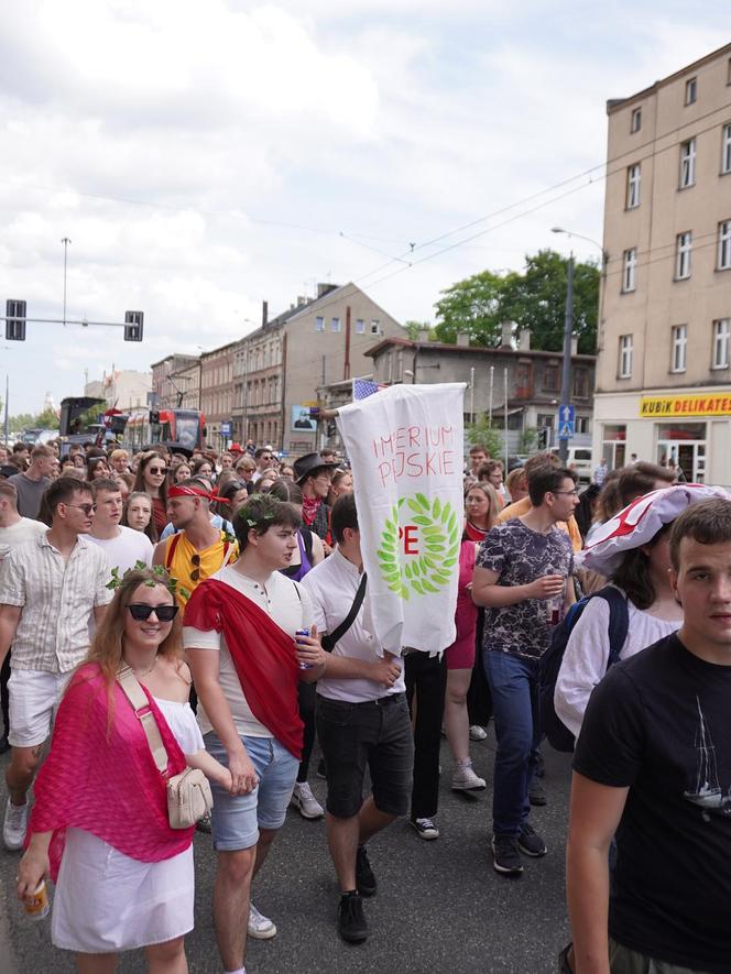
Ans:
[{"label": "tall beige building with yellow Kubik Delikatesy sign", "polygon": [[607,111],[594,459],[731,484],[731,44]]}]

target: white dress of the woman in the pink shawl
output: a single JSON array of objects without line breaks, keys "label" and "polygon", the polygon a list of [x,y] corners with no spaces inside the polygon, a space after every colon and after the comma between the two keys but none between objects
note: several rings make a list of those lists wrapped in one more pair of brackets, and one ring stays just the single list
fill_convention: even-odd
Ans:
[{"label": "white dress of the woman in the pink shawl", "polygon": [[[159,700],[184,754],[204,748],[189,703]],[[68,829],[53,898],[51,939],[79,953],[116,953],[164,943],[193,930],[193,844],[141,863],[81,829]]]}]

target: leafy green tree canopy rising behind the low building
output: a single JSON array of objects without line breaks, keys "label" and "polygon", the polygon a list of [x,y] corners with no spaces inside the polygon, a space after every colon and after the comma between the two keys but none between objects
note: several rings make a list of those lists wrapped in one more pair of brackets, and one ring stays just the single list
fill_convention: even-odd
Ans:
[{"label": "leafy green tree canopy rising behind the low building", "polygon": [[[473,344],[497,347],[502,322],[531,329],[531,347],[560,351],[564,347],[564,315],[568,262],[554,250],[527,255],[522,273],[504,275],[481,271],[441,292],[436,303],[436,333],[440,341],[456,342],[467,331]],[[574,266],[574,333],[579,352],[597,350],[599,270],[593,263]]]}]

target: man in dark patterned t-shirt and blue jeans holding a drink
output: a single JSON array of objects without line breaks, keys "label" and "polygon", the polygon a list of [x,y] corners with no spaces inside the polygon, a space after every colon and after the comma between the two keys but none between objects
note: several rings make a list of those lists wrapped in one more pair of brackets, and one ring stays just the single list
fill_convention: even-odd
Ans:
[{"label": "man in dark patterned t-shirt and blue jeans holding a drink", "polygon": [[547,849],[528,823],[528,789],[541,741],[538,663],[553,625],[574,601],[574,554],[558,528],[579,503],[575,474],[544,464],[528,474],[531,510],[492,528],[480,545],[472,598],[490,611],[483,660],[495,720],[492,800],[493,866],[503,876],[523,872],[520,853]]}]

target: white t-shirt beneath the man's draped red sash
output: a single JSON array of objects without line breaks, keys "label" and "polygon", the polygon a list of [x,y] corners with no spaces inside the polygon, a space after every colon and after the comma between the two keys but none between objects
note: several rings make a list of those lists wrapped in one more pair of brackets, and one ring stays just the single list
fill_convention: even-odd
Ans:
[{"label": "white t-shirt beneath the man's draped red sash", "polygon": [[[277,626],[292,636],[293,653],[295,652],[294,634],[297,630],[309,628],[313,625],[313,606],[307,593],[298,582],[286,578],[279,571],[272,572],[264,586],[242,574],[236,565],[227,565],[216,574],[211,574],[211,578],[226,582],[227,586],[241,592],[247,599],[251,599],[255,605],[271,615]],[[239,735],[272,737],[273,734],[269,727],[260,723],[251,712],[222,633],[217,633],[215,630],[204,632],[193,626],[183,626],[183,645],[186,649],[216,649],[220,654],[218,682],[231,710],[231,716]],[[200,701],[198,701],[197,718],[203,734],[214,730]]]}]

